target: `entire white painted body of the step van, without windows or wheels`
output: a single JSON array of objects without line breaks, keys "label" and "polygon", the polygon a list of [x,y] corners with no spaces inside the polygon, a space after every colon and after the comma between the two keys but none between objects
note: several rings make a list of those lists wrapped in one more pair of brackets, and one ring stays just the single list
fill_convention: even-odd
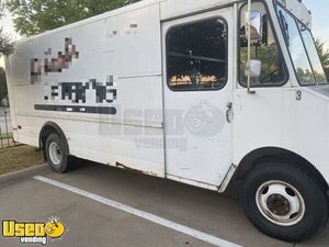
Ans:
[{"label": "entire white painted body of the step van, without windows or wheels", "polygon": [[[306,8],[291,2],[300,20],[310,22]],[[329,181],[329,133],[324,133],[329,93],[300,88],[280,34],[290,80],[248,94],[237,79],[240,4],[145,0],[20,42],[5,61],[14,138],[37,146],[43,125],[52,121],[65,133],[73,156],[211,190],[226,187],[227,173],[232,176],[232,167],[252,150],[277,147],[304,157]],[[268,5],[273,15],[272,1]],[[173,93],[167,86],[166,32],[217,15],[228,26],[227,85],[219,91]],[[279,30],[276,19],[273,25]],[[60,71],[39,68],[45,59],[64,54],[70,61]],[[79,87],[86,96],[77,92]],[[303,101],[296,101],[297,91]],[[172,111],[186,112],[201,102],[220,111],[220,130],[211,137],[184,132],[171,146],[167,132]],[[234,115],[226,115],[228,103]],[[95,114],[98,109],[109,114]]]}]

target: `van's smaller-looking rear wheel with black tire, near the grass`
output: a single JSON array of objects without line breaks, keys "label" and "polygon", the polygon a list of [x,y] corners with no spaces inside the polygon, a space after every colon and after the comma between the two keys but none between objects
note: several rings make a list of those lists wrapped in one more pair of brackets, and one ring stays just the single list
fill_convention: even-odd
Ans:
[{"label": "van's smaller-looking rear wheel with black tire, near the grass", "polygon": [[[59,135],[56,133],[50,134],[47,139],[46,139],[46,145],[45,145],[45,155],[47,158],[47,161],[52,169],[58,173],[64,173],[68,171],[71,167],[72,160],[71,157],[69,157],[67,154],[67,148]],[[56,149],[58,148],[57,151],[57,157],[54,158],[54,146]],[[53,151],[53,156],[52,156]]]}]

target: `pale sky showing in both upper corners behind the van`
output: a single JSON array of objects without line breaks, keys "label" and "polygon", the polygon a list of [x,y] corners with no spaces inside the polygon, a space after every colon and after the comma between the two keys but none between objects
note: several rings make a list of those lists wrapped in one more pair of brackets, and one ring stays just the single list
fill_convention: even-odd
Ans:
[{"label": "pale sky showing in both upper corners behind the van", "polygon": [[[329,20],[327,16],[328,3],[322,0],[303,0],[303,2],[313,13],[313,33],[315,38],[319,37],[329,48]],[[21,38],[20,35],[14,31],[12,16],[9,13],[7,13],[5,16],[0,20],[0,26],[2,26],[3,31],[10,34],[13,40]],[[0,67],[3,67],[2,58],[0,58]]]}]

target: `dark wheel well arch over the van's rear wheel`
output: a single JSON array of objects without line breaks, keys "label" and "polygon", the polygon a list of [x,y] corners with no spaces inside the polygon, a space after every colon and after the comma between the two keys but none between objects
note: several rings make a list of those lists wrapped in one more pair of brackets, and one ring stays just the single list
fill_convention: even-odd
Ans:
[{"label": "dark wheel well arch over the van's rear wheel", "polygon": [[[70,154],[69,151],[69,146],[67,143],[67,138],[64,134],[64,132],[61,131],[61,128],[54,122],[47,122],[44,124],[44,126],[42,127],[41,132],[39,132],[39,137],[38,137],[38,145],[42,149],[44,149],[45,145],[46,145],[46,141],[47,137],[53,134],[56,133],[57,135],[59,135],[60,139],[63,139],[65,146],[66,146],[66,150],[67,150],[67,156]],[[44,149],[44,156],[45,156],[45,149]],[[46,158],[46,156],[45,156]]]}]

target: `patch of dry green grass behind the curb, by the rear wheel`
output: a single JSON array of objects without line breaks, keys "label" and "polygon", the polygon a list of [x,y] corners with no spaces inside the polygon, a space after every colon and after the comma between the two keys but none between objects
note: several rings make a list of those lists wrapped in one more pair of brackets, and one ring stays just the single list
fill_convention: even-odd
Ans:
[{"label": "patch of dry green grass behind the curb, by the rear wheel", "polygon": [[0,175],[44,164],[43,151],[20,145],[0,149]]}]

